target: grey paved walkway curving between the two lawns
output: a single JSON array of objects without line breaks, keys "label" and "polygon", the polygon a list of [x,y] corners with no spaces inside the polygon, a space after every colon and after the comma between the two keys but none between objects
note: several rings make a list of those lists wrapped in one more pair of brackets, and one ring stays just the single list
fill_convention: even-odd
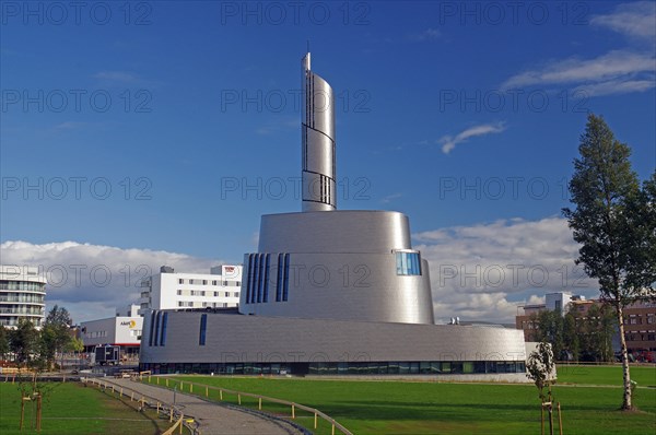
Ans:
[{"label": "grey paved walkway curving between the two lawns", "polygon": [[[130,379],[110,379],[106,377],[102,380],[119,387],[131,388],[164,403],[173,403],[173,391],[166,388]],[[175,404],[185,413],[185,416],[189,415],[199,423],[198,428],[201,434],[298,435],[303,433],[284,421],[229,409],[219,403],[202,400],[197,396],[176,392]]]}]

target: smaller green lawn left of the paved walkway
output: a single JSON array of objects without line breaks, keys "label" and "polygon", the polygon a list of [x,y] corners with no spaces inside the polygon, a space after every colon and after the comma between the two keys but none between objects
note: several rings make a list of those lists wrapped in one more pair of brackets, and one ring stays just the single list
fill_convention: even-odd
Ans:
[{"label": "smaller green lawn left of the paved walkway", "polygon": [[[155,412],[140,413],[129,399],[118,400],[97,388],[79,383],[47,383],[43,399],[43,434],[156,434],[168,428],[168,421]],[[136,402],[134,402],[136,403]],[[36,409],[25,407],[23,433],[36,433]],[[20,434],[21,391],[17,384],[0,383],[0,434]]]}]

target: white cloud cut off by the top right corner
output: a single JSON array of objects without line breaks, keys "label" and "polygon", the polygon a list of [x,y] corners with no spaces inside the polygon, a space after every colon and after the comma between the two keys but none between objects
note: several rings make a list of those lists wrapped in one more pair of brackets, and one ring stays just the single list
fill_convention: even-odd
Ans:
[{"label": "white cloud cut off by the top right corner", "polygon": [[631,37],[645,38],[654,44],[656,39],[656,3],[636,1],[618,4],[608,15],[595,15],[591,25],[610,28]]}]

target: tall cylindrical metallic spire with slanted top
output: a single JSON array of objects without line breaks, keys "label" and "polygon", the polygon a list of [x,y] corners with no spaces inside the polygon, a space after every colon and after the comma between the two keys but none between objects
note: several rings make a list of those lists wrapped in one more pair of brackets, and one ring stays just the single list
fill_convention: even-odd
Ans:
[{"label": "tall cylindrical metallic spire with slanted top", "polygon": [[330,211],[337,208],[335,99],[328,82],[311,71],[309,51],[302,64],[303,211]]}]

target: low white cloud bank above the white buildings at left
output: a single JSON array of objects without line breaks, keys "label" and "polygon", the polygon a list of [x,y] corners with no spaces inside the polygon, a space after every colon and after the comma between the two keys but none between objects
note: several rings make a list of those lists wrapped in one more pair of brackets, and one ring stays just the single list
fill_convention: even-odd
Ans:
[{"label": "low white cloud bank above the white buildings at left", "polygon": [[0,245],[2,264],[38,267],[49,284],[46,309],[65,306],[75,322],[113,317],[121,307],[139,298],[139,282],[160,266],[178,272],[209,273],[222,261],[185,254],[150,249],[62,242],[31,244],[4,242]]}]

